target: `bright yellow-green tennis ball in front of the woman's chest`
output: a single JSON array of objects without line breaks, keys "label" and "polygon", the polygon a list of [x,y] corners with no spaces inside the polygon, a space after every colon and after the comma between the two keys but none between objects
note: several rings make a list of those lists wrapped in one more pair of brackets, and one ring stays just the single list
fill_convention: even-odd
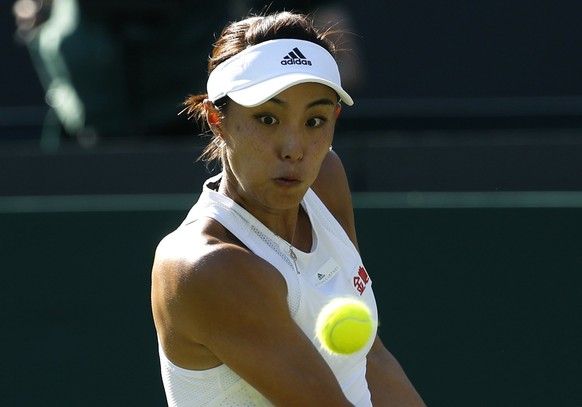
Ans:
[{"label": "bright yellow-green tennis ball in front of the woman's chest", "polygon": [[355,298],[335,298],[319,313],[315,333],[330,353],[348,355],[362,349],[374,330],[370,309]]}]

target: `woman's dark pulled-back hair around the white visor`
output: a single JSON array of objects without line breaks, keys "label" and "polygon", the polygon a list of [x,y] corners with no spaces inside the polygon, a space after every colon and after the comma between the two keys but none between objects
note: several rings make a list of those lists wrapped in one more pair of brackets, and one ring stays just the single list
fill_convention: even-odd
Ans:
[{"label": "woman's dark pulled-back hair around the white visor", "polygon": [[[246,48],[260,44],[265,41],[293,38],[311,41],[335,55],[336,47],[330,39],[330,30],[318,30],[313,19],[303,14],[288,11],[278,12],[269,15],[251,16],[241,21],[228,24],[218,40],[214,43],[214,48],[210,60],[208,61],[208,74],[220,63],[245,50]],[[202,128],[206,128],[206,113],[204,110],[204,100],[207,95],[191,95],[184,101],[188,117],[199,122]],[[220,111],[225,111],[228,104],[228,97],[218,100],[215,105]],[[213,161],[221,157],[221,148],[212,136],[200,159]]]}]

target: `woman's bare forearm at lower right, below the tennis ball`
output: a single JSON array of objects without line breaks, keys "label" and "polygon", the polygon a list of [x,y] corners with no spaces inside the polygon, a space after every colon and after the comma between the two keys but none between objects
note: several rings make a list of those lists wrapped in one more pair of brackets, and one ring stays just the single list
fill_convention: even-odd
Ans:
[{"label": "woman's bare forearm at lower right, below the tennis ball", "polygon": [[425,406],[398,361],[378,338],[368,355],[366,379],[375,407]]}]

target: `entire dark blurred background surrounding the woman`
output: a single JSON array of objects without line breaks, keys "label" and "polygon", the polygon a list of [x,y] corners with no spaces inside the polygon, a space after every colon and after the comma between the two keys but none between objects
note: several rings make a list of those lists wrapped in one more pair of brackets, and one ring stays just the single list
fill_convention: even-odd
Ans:
[{"label": "entire dark blurred background surrounding the woman", "polygon": [[347,30],[334,149],[384,342],[431,406],[580,406],[582,3],[0,4],[0,405],[163,406],[149,273],[212,173],[226,22]]}]

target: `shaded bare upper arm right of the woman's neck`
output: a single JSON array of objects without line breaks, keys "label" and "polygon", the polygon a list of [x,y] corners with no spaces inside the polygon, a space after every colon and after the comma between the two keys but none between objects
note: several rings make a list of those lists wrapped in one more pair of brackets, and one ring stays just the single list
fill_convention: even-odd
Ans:
[{"label": "shaded bare upper arm right of the woman's neck", "polygon": [[333,150],[323,161],[312,189],[357,247],[350,186],[341,159]]}]

